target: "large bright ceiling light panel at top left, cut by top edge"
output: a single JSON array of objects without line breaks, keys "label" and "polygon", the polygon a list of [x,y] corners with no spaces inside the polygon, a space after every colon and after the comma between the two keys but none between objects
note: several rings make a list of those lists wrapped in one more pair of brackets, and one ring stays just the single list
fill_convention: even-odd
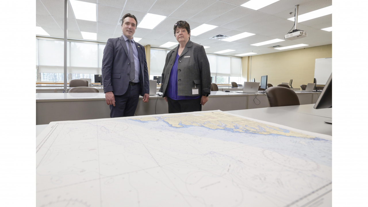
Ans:
[{"label": "large bright ceiling light panel at top left, cut by top edge", "polygon": [[70,0],[75,18],[78,20],[96,21],[96,4]]}]

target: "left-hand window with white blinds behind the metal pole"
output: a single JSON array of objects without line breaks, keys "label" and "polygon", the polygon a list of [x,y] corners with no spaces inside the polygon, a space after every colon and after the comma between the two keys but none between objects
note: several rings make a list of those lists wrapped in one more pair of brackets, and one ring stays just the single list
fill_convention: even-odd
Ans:
[{"label": "left-hand window with white blinds behind the metal pole", "polygon": [[[67,42],[67,81],[101,74],[103,49],[96,43]],[[40,82],[64,81],[64,41],[36,40],[36,73]]]}]

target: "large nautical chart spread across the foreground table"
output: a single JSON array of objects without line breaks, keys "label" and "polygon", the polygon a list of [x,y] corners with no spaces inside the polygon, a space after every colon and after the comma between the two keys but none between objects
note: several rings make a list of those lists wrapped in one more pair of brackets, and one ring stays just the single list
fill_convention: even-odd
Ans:
[{"label": "large nautical chart spread across the foreground table", "polygon": [[332,140],[222,111],[51,122],[37,206],[303,206],[332,190]]}]

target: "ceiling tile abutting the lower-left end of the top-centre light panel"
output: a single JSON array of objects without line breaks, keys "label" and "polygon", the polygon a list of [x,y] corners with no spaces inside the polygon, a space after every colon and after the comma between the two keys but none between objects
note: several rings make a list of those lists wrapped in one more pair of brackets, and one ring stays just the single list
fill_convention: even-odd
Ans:
[{"label": "ceiling tile abutting the lower-left end of the top-centre light panel", "polygon": [[226,13],[220,15],[219,17],[214,18],[206,22],[206,24],[221,26],[227,24],[233,20],[237,20],[240,17],[244,17],[252,13],[253,11],[244,7],[235,7],[234,9],[227,11]]}]

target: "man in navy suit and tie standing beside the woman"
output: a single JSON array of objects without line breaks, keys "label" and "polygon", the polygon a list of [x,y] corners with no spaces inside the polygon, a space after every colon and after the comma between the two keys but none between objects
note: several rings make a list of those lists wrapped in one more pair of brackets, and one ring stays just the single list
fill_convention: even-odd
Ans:
[{"label": "man in navy suit and tie standing beside the woman", "polygon": [[110,117],[134,116],[139,95],[149,99],[149,78],[145,49],[133,35],[137,18],[125,14],[121,21],[123,35],[107,40],[103,50],[102,82]]}]

